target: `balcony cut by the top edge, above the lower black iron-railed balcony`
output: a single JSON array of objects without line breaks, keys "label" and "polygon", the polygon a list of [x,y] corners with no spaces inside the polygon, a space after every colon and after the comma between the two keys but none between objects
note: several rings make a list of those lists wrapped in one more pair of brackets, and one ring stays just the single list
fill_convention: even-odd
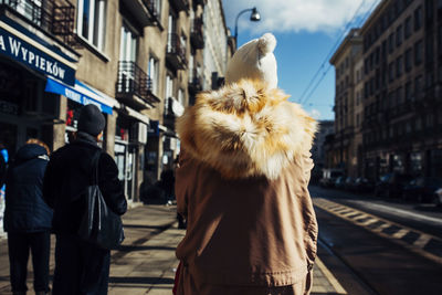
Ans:
[{"label": "balcony cut by the top edge, above the lower black iron-railed balcony", "polygon": [[126,0],[122,3],[141,27],[160,25],[159,8],[154,0]]}]

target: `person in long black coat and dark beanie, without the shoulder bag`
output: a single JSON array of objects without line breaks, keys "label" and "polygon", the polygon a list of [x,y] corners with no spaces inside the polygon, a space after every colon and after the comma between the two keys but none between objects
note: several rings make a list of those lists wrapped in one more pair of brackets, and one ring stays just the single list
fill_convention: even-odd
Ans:
[{"label": "person in long black coat and dark beanie, without the shoulder bag", "polygon": [[102,151],[105,118],[95,105],[82,108],[76,139],[51,156],[44,176],[43,194],[54,209],[52,222],[56,235],[55,271],[52,294],[107,294],[110,253],[87,243],[77,235],[81,219],[87,210],[81,192],[92,183],[92,159],[99,152],[98,187],[108,208],[124,214],[127,202],[118,180],[114,159]]}]

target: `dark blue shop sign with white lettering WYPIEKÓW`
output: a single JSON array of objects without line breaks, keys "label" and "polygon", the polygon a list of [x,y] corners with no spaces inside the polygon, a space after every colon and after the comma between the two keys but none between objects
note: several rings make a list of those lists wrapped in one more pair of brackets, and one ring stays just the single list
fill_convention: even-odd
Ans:
[{"label": "dark blue shop sign with white lettering WYPIEK\u00d3W", "polygon": [[0,28],[0,54],[69,85],[75,84],[75,70]]}]

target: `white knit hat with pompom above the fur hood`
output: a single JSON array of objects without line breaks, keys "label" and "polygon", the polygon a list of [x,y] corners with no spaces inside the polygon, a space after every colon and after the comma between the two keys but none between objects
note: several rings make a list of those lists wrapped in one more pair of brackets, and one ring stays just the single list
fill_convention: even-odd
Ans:
[{"label": "white knit hat with pompom above the fur hood", "polygon": [[276,59],[273,55],[275,46],[276,39],[272,33],[266,33],[242,45],[229,62],[225,83],[252,78],[267,83],[270,88],[276,88]]}]

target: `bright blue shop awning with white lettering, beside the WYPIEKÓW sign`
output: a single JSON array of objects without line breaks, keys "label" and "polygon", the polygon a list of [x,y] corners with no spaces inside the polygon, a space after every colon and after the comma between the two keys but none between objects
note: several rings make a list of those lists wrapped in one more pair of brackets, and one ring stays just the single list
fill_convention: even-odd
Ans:
[{"label": "bright blue shop awning with white lettering, beside the WYPIEK\u00d3W sign", "polygon": [[75,80],[74,87],[64,84],[63,82],[48,77],[45,92],[51,92],[55,94],[61,94],[67,98],[82,104],[88,105],[94,104],[105,114],[112,115],[112,108],[118,105],[118,102],[108,97],[98,95],[96,91],[93,91],[91,86]]}]

